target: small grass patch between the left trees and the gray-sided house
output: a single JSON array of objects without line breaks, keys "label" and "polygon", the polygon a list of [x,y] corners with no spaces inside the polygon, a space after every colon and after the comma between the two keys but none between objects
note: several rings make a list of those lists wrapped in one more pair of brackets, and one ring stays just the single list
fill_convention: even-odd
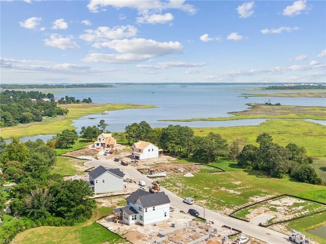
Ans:
[{"label": "small grass patch between the left trees and the gray-sided house", "polygon": [[74,165],[79,166],[84,165],[85,160],[74,159],[71,157],[58,157],[56,165],[52,170],[53,173],[58,173],[61,175],[78,175],[84,174],[84,171],[77,170]]}]

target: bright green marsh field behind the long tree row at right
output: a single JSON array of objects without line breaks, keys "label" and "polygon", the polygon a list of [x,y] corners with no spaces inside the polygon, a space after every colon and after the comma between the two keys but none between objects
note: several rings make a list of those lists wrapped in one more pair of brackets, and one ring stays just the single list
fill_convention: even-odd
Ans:
[{"label": "bright green marsh field behind the long tree row at right", "polygon": [[229,143],[235,139],[243,139],[247,140],[247,144],[256,144],[257,135],[268,132],[273,137],[273,142],[281,146],[295,143],[300,147],[305,147],[307,153],[313,157],[326,156],[325,126],[308,121],[267,120],[260,125],[192,129],[195,135],[205,136],[212,131],[221,134]]}]

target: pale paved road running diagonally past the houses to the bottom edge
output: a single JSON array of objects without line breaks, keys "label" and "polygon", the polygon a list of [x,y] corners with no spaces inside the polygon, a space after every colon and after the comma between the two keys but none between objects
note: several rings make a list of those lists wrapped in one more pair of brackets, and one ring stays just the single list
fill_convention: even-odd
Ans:
[{"label": "pale paved road running diagonally past the houses to the bottom edge", "polygon": [[[134,179],[136,182],[139,182],[140,180],[144,180],[146,182],[146,189],[148,189],[148,186],[152,185],[152,180],[137,171],[137,169],[134,169],[131,166],[122,166],[119,162],[115,162],[110,159],[100,159],[100,160],[93,160],[86,162],[87,166],[89,167],[97,167],[102,165],[103,167],[108,168],[119,168],[123,173],[128,176],[131,179]],[[182,199],[172,192],[168,191],[164,187],[161,187],[161,189],[169,196],[171,200],[171,205],[175,208],[178,208],[180,210],[183,210],[184,212],[187,212],[189,209],[189,205],[182,202]],[[209,209],[204,209],[201,206],[198,206],[196,204],[192,205],[191,208],[196,209],[199,211],[200,216],[204,217],[204,211],[205,211],[205,219],[209,221],[213,221],[214,224],[218,225],[226,225],[230,226],[234,229],[241,230],[243,233],[251,235],[257,239],[263,240],[267,243],[271,244],[282,244],[282,243],[291,243],[288,240],[288,236],[284,235],[282,233],[279,233],[274,230],[270,230],[267,228],[263,228],[251,223],[247,223],[244,221],[240,221],[237,219],[230,218],[229,216],[223,215],[218,212],[211,211]]]}]

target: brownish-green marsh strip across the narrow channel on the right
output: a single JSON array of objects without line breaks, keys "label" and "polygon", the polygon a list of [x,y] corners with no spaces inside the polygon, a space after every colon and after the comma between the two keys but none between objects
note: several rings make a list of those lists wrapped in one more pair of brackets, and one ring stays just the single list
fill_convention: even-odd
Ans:
[{"label": "brownish-green marsh strip across the narrow channel on the right", "polygon": [[326,107],[310,107],[310,106],[268,106],[260,103],[247,104],[250,110],[241,112],[231,112],[228,114],[233,117],[217,117],[217,118],[193,118],[193,119],[169,119],[161,121],[224,121],[224,120],[241,120],[241,119],[326,119]]}]

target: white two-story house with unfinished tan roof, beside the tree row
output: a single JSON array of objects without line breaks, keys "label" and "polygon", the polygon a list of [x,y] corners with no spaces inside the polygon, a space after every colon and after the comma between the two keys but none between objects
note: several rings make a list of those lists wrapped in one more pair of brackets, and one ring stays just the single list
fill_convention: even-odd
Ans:
[{"label": "white two-story house with unfinished tan roof, beside the tree row", "polygon": [[158,157],[158,147],[150,142],[139,141],[131,146],[131,155],[134,159],[142,160]]}]

